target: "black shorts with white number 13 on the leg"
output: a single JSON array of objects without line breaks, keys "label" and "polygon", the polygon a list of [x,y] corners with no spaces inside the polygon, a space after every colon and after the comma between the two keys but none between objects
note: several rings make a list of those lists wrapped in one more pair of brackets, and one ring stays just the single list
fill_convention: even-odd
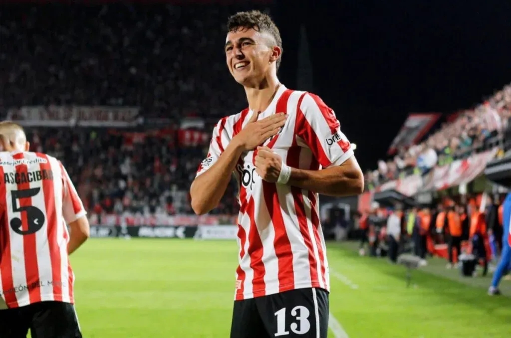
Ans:
[{"label": "black shorts with white number 13 on the leg", "polygon": [[328,296],[301,288],[235,301],[230,338],[327,338]]}]

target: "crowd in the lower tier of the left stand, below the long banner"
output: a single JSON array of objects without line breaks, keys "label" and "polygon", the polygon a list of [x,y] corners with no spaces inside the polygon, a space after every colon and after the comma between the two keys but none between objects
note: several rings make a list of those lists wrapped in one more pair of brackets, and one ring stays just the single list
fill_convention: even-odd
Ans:
[{"label": "crowd in the lower tier of the left stand, below the long banner", "polygon": [[[190,183],[204,147],[176,147],[175,135],[133,138],[104,129],[28,129],[31,150],[59,158],[89,212],[190,214]],[[213,213],[237,212],[229,185]]]}]

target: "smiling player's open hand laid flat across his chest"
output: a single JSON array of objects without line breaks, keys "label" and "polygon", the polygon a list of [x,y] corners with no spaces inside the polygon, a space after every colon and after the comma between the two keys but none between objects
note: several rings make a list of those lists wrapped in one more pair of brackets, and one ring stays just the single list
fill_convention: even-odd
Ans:
[{"label": "smiling player's open hand laid flat across his chest", "polygon": [[276,135],[287,119],[286,114],[278,113],[258,121],[258,115],[254,112],[245,128],[233,138],[233,141],[238,142],[244,151],[253,150],[268,138]]}]

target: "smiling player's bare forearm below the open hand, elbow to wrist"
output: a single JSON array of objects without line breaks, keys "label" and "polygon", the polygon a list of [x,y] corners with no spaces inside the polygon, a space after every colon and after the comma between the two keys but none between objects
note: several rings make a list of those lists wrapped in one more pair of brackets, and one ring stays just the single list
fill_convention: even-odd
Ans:
[{"label": "smiling player's bare forearm below the open hand, elbow to wrist", "polygon": [[210,212],[220,203],[242,152],[239,144],[230,142],[215,164],[193,181],[190,196],[196,214]]}]

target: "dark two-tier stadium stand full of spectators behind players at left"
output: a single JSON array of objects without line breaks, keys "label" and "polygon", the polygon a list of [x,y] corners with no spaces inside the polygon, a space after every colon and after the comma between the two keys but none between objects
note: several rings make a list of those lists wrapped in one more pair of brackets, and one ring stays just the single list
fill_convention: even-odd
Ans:
[{"label": "dark two-tier stadium stand full of spectators behind players at left", "polygon": [[[225,19],[242,9],[3,7],[0,111],[30,126],[33,150],[62,160],[89,213],[191,214],[188,189],[212,126],[245,106],[222,49]],[[107,128],[119,127],[115,107],[136,107],[128,127]],[[84,111],[110,117],[87,125]],[[234,185],[214,213],[237,213]]]}]

